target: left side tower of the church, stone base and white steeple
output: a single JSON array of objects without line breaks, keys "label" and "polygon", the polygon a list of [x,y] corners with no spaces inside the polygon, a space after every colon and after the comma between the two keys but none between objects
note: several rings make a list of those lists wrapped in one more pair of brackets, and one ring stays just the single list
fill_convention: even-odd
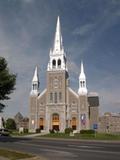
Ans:
[{"label": "left side tower of the church, stone base and white steeple", "polygon": [[30,122],[29,122],[29,131],[35,132],[38,128],[38,106],[37,106],[37,97],[39,95],[39,77],[38,77],[38,68],[36,66],[34,71],[34,76],[32,79],[32,88],[30,92]]}]

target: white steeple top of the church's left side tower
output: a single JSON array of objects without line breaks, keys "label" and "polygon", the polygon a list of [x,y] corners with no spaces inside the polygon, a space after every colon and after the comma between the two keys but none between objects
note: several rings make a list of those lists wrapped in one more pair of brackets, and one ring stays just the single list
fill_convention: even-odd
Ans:
[{"label": "white steeple top of the church's left side tower", "polygon": [[34,76],[32,79],[31,95],[38,95],[38,93],[39,93],[39,78],[38,78],[38,68],[36,66]]}]

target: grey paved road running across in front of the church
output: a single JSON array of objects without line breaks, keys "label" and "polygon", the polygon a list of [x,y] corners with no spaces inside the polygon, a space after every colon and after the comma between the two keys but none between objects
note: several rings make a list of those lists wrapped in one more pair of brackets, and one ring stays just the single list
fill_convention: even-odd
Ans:
[{"label": "grey paved road running across in front of the church", "polygon": [[0,147],[49,160],[120,160],[120,143],[0,137]]}]

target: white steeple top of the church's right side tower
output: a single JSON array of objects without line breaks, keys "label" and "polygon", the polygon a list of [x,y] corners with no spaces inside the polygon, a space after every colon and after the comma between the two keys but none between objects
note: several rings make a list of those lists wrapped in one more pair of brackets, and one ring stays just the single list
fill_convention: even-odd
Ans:
[{"label": "white steeple top of the church's right side tower", "polygon": [[79,76],[79,89],[78,89],[79,95],[86,95],[87,94],[87,87],[86,87],[86,76],[84,73],[84,67],[83,62],[81,61],[81,72]]}]

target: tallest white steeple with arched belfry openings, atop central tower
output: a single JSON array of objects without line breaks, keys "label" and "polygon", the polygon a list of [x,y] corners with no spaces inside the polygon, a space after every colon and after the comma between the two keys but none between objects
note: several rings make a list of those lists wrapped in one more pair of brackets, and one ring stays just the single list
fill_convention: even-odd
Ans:
[{"label": "tallest white steeple with arched belfry openings, atop central tower", "polygon": [[53,49],[50,49],[50,60],[48,63],[48,71],[50,70],[67,70],[66,54],[64,52],[62,34],[60,27],[60,18],[57,18],[56,32]]}]

